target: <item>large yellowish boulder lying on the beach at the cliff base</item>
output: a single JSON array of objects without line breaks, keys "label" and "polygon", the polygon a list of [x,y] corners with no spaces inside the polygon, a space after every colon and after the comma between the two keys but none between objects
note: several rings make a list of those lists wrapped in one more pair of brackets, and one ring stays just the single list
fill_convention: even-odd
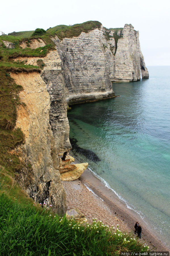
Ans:
[{"label": "large yellowish boulder lying on the beach at the cliff base", "polygon": [[74,181],[78,179],[83,171],[87,168],[88,163],[77,163],[64,165],[64,167],[59,167],[60,178],[62,181]]}]

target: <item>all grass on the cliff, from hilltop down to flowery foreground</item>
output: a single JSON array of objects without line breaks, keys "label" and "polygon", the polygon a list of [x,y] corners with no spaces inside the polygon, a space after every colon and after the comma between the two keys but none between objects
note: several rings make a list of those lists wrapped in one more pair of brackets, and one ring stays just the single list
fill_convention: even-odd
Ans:
[{"label": "all grass on the cliff, from hilltop down to flowery foreground", "polygon": [[[0,255],[116,255],[116,251],[142,250],[143,246],[135,245],[134,241],[124,242],[122,235],[109,233],[101,227],[73,226],[72,223],[54,221],[39,208],[33,208],[33,200],[20,188],[15,181],[15,175],[25,163],[12,150],[24,142],[24,135],[20,129],[14,130],[16,122],[16,107],[24,104],[20,102],[18,94],[22,87],[16,85],[9,75],[11,69],[15,71],[31,72],[40,69],[38,66],[26,65],[24,62],[13,62],[11,58],[17,56],[45,56],[53,49],[51,35],[57,34],[60,39],[77,36],[81,31],[88,32],[100,27],[100,22],[85,22],[74,26],[60,25],[47,30],[41,36],[47,46],[35,50],[20,48],[25,32],[0,36]],[[7,49],[3,40],[13,42],[15,49]],[[41,61],[39,61],[41,63]],[[38,64],[37,64],[38,65]],[[42,63],[41,63],[42,65]],[[30,167],[27,166],[27,169]],[[16,199],[17,200],[14,200]],[[94,224],[95,225],[95,224]],[[84,232],[84,231],[85,232]],[[97,232],[99,231],[99,233]],[[130,239],[127,237],[127,239]],[[133,242],[133,243],[132,243]],[[124,246],[125,245],[125,246]],[[134,247],[135,246],[135,247]],[[135,248],[135,249],[134,249]],[[146,247],[143,248],[146,250]],[[75,254],[74,254],[75,253]]]}]

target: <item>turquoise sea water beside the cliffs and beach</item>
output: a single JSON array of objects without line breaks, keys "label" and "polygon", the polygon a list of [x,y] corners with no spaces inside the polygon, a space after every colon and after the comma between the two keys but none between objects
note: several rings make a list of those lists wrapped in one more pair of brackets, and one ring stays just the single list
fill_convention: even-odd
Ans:
[{"label": "turquoise sea water beside the cliffs and beach", "polygon": [[148,71],[147,80],[113,83],[120,97],[72,106],[70,140],[74,155],[169,244],[170,66]]}]

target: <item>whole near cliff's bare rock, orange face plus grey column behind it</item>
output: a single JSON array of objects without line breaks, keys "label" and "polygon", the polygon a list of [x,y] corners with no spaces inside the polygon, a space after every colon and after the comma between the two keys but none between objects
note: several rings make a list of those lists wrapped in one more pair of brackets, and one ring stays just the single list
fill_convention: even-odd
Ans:
[{"label": "whole near cliff's bare rock, orange face plus grey column behind it", "polygon": [[[37,58],[23,58],[36,65]],[[58,152],[71,148],[67,104],[56,50],[43,61],[46,65],[39,73],[11,73],[22,85],[20,99],[26,107],[18,108],[16,127],[25,135],[25,144],[18,148],[22,161],[30,163],[31,170],[18,174],[18,182],[35,202],[52,204],[58,214],[66,212],[65,191],[58,171]],[[43,81],[44,80],[44,81]]]}]

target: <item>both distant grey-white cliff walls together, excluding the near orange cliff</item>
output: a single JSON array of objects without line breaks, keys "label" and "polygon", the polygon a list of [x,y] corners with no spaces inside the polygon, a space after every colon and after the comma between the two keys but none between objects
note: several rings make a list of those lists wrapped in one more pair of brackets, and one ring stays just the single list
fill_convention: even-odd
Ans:
[{"label": "both distant grey-white cliff walls together, excluding the near orange cliff", "polygon": [[140,73],[149,77],[139,33],[131,24],[118,31],[101,26],[77,37],[52,40],[62,60],[69,104],[114,97],[111,81],[137,81]]}]

